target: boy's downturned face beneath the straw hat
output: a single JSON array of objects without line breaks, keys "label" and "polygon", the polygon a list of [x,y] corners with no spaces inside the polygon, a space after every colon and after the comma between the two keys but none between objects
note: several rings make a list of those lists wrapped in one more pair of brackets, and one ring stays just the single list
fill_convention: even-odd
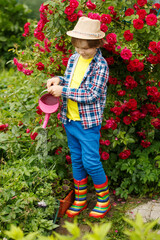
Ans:
[{"label": "boy's downturned face beneath the straw hat", "polygon": [[96,54],[96,48],[90,48],[88,42],[83,39],[76,42],[75,50],[85,59],[92,58]]}]

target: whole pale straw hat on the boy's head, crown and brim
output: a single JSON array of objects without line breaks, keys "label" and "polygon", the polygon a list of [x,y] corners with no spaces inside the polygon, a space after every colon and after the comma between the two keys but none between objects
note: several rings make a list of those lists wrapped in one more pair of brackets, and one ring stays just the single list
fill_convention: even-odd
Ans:
[{"label": "whole pale straw hat on the boy's head, crown and brim", "polygon": [[88,17],[80,17],[72,31],[68,31],[70,37],[80,39],[101,39],[105,33],[100,30],[100,21]]}]

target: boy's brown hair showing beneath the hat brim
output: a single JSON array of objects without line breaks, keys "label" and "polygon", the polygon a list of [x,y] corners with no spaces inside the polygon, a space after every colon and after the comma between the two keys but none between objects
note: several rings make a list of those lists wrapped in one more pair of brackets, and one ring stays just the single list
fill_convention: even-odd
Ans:
[{"label": "boy's brown hair showing beneath the hat brim", "polygon": [[[82,39],[80,38],[74,38],[72,37],[71,38],[71,43],[74,47],[76,47],[77,43],[79,41],[81,41]],[[94,39],[94,40],[90,40],[90,39],[83,39],[83,40],[86,40],[87,43],[88,43],[88,47],[89,48],[96,48],[96,47],[102,47],[103,46],[103,40],[102,39]]]}]

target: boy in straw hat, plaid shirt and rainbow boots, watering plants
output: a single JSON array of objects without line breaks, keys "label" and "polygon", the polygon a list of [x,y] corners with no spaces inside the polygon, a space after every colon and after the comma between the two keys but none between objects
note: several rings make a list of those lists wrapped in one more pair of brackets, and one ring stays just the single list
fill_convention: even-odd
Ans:
[{"label": "boy in straw hat, plaid shirt and rainbow boots, watering plants", "polygon": [[104,32],[100,21],[81,17],[72,31],[76,53],[67,65],[64,77],[47,81],[48,92],[62,96],[61,121],[65,126],[72,159],[75,201],[67,210],[69,217],[87,207],[87,175],[93,180],[97,204],[91,217],[103,218],[110,210],[108,179],[99,155],[100,128],[106,102],[109,69],[99,47]]}]

